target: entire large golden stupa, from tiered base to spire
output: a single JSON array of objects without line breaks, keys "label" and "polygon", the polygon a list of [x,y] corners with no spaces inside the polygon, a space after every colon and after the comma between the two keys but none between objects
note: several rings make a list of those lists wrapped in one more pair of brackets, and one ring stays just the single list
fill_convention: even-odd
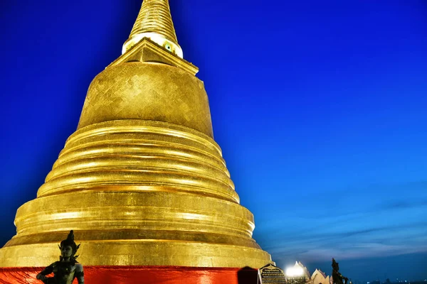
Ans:
[{"label": "entire large golden stupa, from tiered base to spire", "polygon": [[16,212],[0,266],[56,261],[71,229],[85,266],[271,263],[252,239],[253,214],[239,204],[167,0],[144,0],[122,51],[90,84],[37,198]]}]

